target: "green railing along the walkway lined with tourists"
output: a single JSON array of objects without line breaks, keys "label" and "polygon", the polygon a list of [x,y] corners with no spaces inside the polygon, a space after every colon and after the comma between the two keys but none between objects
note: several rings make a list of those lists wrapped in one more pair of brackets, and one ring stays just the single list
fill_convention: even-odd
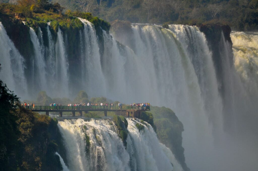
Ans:
[{"label": "green railing along the walkway lined with tourists", "polygon": [[[122,105],[122,108],[119,106],[23,106],[30,110],[150,110],[150,106],[145,108],[138,106]],[[16,106],[19,108],[19,106]]]}]

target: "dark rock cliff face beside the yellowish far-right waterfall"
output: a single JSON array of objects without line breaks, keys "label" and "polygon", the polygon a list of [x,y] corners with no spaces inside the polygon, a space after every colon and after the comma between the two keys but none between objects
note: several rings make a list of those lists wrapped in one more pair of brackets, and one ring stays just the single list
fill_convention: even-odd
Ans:
[{"label": "dark rock cliff face beside the yellowish far-right waterfall", "polygon": [[[216,70],[217,80],[221,85],[220,92],[223,94],[223,61],[225,60],[225,58],[228,58],[230,66],[233,65],[233,43],[230,38],[231,28],[229,27],[229,25],[219,24],[201,24],[197,25],[197,27],[199,27],[200,31],[205,34],[208,41],[209,49],[212,52],[212,60]],[[223,47],[223,36],[224,40],[228,42],[228,47]],[[225,50],[223,48],[227,48],[227,56],[222,53],[223,50]]]}]

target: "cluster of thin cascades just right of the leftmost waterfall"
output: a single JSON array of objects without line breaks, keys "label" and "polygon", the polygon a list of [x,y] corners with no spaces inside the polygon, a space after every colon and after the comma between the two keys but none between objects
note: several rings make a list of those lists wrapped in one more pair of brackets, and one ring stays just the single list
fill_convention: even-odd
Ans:
[{"label": "cluster of thin cascades just right of the leftmost waterfall", "polygon": [[57,41],[49,30],[47,30],[47,44],[44,45],[41,29],[38,30],[38,36],[30,28],[31,42],[34,47],[34,57],[32,60],[32,74],[28,79],[32,79],[36,84],[37,91],[46,91],[52,95],[68,96],[68,61],[62,31],[59,28],[57,32]]}]

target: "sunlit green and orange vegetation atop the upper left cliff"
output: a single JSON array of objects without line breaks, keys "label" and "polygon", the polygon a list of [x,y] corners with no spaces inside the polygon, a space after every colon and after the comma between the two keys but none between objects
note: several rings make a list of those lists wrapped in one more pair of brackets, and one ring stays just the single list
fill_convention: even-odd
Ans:
[{"label": "sunlit green and orange vegetation atop the upper left cliff", "polygon": [[75,29],[82,29],[83,23],[75,17],[81,17],[92,22],[96,30],[100,29],[109,31],[110,24],[98,17],[92,16],[91,13],[71,12],[67,10],[65,14],[62,13],[64,7],[59,3],[49,3],[47,0],[27,1],[19,0],[18,5],[15,4],[0,4],[0,19],[9,22],[14,20],[25,21],[25,24],[37,30],[38,27],[44,28],[47,22],[51,22],[50,26],[53,31],[57,32],[58,28],[65,31],[74,31]]}]

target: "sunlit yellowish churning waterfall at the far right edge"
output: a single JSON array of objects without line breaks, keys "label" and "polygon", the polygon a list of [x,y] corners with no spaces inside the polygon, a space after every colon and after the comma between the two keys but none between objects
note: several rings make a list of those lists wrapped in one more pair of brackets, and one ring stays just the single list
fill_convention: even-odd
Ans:
[{"label": "sunlit yellowish churning waterfall at the far right edge", "polygon": [[244,84],[244,89],[249,93],[249,97],[255,99],[258,95],[258,33],[232,32],[230,36],[233,42],[236,71]]}]

